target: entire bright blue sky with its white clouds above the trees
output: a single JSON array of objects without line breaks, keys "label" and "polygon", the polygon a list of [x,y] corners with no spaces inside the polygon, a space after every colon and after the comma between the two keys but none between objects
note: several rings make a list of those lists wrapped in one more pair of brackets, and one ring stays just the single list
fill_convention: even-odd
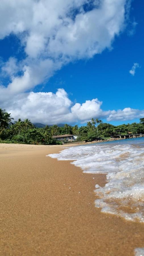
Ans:
[{"label": "entire bright blue sky with its white clouds above the trees", "polygon": [[33,123],[139,122],[143,9],[140,0],[3,1],[0,108]]}]

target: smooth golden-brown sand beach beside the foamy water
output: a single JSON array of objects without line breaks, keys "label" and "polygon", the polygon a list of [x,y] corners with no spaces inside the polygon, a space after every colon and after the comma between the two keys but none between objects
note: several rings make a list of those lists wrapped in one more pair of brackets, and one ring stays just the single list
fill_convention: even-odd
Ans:
[{"label": "smooth golden-brown sand beach beside the foamy water", "polygon": [[0,255],[134,255],[144,225],[95,208],[105,176],[46,157],[62,148],[0,144]]}]

